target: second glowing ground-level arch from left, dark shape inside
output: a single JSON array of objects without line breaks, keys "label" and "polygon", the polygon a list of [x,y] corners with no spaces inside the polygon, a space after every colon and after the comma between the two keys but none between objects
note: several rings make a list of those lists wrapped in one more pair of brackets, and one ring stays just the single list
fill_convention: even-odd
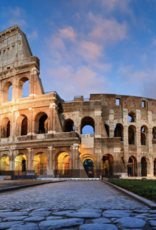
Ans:
[{"label": "second glowing ground-level arch from left, dark shape inside", "polygon": [[19,154],[15,157],[15,171],[26,172],[27,158],[24,154]]}]

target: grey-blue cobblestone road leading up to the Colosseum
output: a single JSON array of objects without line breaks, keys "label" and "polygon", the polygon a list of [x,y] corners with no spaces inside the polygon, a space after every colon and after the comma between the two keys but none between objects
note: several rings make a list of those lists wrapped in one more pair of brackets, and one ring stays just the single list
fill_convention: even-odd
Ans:
[{"label": "grey-blue cobblestone road leading up to the Colosseum", "polygon": [[0,229],[156,229],[156,210],[100,181],[67,181],[1,194]]}]

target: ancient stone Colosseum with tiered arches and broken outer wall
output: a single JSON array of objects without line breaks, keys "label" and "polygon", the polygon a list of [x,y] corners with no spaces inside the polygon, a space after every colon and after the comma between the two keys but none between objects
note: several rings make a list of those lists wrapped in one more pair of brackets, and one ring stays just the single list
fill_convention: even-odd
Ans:
[{"label": "ancient stone Colosseum with tiered arches and broken outer wall", "polygon": [[21,29],[1,32],[0,175],[156,176],[156,100],[90,94],[66,102],[44,92],[39,74]]}]

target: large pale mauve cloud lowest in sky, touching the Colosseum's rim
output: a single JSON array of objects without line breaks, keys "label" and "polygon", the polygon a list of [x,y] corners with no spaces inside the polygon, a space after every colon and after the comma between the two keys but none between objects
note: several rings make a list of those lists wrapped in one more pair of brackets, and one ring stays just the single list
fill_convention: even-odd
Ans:
[{"label": "large pale mauve cloud lowest in sky, touching the Colosseum's rim", "polygon": [[48,70],[53,87],[63,98],[72,99],[75,94],[89,97],[90,93],[104,93],[110,87],[104,76],[99,76],[87,66],[74,69],[70,65],[59,66]]}]

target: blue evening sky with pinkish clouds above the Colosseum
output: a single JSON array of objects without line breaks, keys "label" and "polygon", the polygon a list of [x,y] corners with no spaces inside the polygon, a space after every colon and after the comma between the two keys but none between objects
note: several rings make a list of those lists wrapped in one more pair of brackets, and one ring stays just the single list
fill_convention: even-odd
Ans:
[{"label": "blue evening sky with pinkish clouds above the Colosseum", "polygon": [[156,99],[155,0],[5,0],[0,31],[26,34],[44,91]]}]

